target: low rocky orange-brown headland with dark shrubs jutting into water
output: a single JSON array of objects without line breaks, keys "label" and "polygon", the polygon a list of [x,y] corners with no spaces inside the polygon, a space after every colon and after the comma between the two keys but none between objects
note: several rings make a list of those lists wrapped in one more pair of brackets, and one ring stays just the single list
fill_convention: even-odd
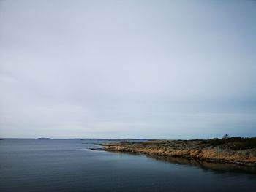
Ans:
[{"label": "low rocky orange-brown headland with dark shrubs jutting into water", "polygon": [[106,150],[142,153],[165,157],[197,159],[200,161],[256,166],[256,137],[227,137],[222,139],[150,140],[147,142],[117,142],[100,144]]}]

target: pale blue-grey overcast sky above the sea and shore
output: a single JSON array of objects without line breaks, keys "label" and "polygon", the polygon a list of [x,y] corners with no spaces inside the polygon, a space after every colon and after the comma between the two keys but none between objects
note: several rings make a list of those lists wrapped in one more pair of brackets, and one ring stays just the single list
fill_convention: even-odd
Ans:
[{"label": "pale blue-grey overcast sky above the sea and shore", "polygon": [[0,1],[0,137],[256,137],[256,1]]}]

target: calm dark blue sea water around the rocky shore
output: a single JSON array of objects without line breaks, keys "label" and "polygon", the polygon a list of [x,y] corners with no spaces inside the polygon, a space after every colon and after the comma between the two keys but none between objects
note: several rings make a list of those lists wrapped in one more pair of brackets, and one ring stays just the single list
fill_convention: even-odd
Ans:
[{"label": "calm dark blue sea water around the rocky shore", "polygon": [[102,140],[0,141],[0,191],[256,191],[251,168],[89,150]]}]

